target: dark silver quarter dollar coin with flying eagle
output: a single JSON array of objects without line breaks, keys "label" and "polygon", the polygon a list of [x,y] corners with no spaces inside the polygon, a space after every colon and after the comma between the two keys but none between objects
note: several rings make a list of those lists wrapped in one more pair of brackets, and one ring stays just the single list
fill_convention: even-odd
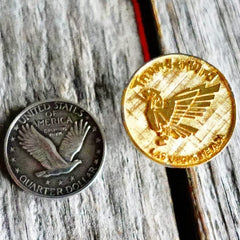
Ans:
[{"label": "dark silver quarter dollar coin with flying eagle", "polygon": [[5,161],[22,189],[59,198],[80,192],[102,167],[105,143],[95,119],[62,100],[35,103],[12,122]]}]

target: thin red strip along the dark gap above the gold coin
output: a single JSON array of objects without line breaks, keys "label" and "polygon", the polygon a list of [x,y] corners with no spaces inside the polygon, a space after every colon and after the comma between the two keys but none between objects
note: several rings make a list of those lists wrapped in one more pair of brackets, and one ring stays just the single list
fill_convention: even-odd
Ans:
[{"label": "thin red strip along the dark gap above the gold coin", "polygon": [[142,14],[141,14],[140,6],[138,3],[138,0],[132,0],[132,3],[133,3],[134,12],[135,12],[135,18],[137,21],[138,34],[139,34],[139,38],[142,46],[144,61],[147,62],[151,59],[151,57],[149,53],[144,25],[142,22]]}]

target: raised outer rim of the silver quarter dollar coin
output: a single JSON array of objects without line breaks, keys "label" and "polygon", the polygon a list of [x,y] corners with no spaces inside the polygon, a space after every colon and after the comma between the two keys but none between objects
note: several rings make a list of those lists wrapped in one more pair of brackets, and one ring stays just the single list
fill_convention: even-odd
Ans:
[{"label": "raised outer rim of the silver quarter dollar coin", "polygon": [[[71,192],[71,193],[68,193],[68,194],[65,194],[65,195],[60,195],[60,196],[49,196],[49,195],[43,195],[43,194],[39,194],[39,193],[35,193],[34,191],[31,191],[30,189],[28,189],[27,187],[25,187],[24,185],[21,184],[21,182],[17,179],[16,175],[13,173],[12,169],[11,169],[11,165],[9,163],[9,158],[8,158],[8,154],[7,154],[7,144],[8,144],[8,139],[9,139],[9,136],[10,136],[10,133],[14,127],[14,125],[16,124],[16,122],[20,119],[20,117],[25,114],[29,109],[37,106],[37,105],[41,105],[43,103],[49,103],[49,102],[66,102],[66,103],[69,103],[69,104],[73,104],[73,105],[76,105],[77,107],[81,108],[82,110],[84,110],[85,112],[87,112],[90,117],[94,120],[95,124],[97,125],[97,127],[99,128],[99,131],[102,135],[102,140],[103,140],[103,154],[102,154],[102,161],[99,165],[99,168],[97,170],[97,172],[95,173],[94,177],[86,184],[84,185],[84,187],[78,189],[77,191],[75,192]],[[35,103],[32,103],[30,104],[29,106],[27,106],[26,108],[24,108],[15,118],[14,120],[11,122],[8,130],[7,130],[7,133],[6,133],[6,136],[4,138],[4,160],[5,160],[5,164],[7,166],[7,170],[11,176],[11,178],[14,180],[14,182],[24,191],[32,194],[32,195],[35,195],[35,196],[38,196],[38,197],[42,197],[42,198],[49,198],[49,199],[60,199],[60,198],[66,198],[66,197],[70,197],[72,195],[75,195],[77,193],[80,193],[81,191],[85,190],[86,188],[90,187],[90,185],[92,185],[92,183],[94,182],[94,180],[96,179],[96,177],[100,174],[102,168],[103,168],[103,165],[104,165],[104,162],[105,162],[105,156],[106,156],[106,140],[105,140],[105,136],[104,136],[104,130],[102,128],[102,126],[98,123],[98,121],[96,121],[96,118],[93,117],[93,115],[91,113],[89,113],[89,111],[85,110],[80,104],[78,103],[75,103],[75,102],[72,102],[72,101],[69,101],[69,100],[65,100],[65,99],[61,99],[61,98],[56,98],[56,99],[49,99],[49,100],[43,100],[43,101],[38,101],[38,102],[35,102]]]}]

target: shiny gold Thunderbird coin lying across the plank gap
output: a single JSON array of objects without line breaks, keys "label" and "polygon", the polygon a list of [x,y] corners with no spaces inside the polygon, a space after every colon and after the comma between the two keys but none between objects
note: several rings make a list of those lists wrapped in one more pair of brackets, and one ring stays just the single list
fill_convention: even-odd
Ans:
[{"label": "shiny gold Thunderbird coin lying across the plank gap", "polygon": [[192,167],[216,156],[236,121],[234,97],[223,74],[182,54],[141,67],[124,91],[122,111],[137,148],[171,167]]}]

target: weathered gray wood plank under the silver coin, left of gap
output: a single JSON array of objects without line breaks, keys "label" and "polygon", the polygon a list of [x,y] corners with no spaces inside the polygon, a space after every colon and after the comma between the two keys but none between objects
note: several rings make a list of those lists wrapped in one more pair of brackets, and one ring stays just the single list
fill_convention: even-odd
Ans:
[{"label": "weathered gray wood plank under the silver coin, left of gap", "polygon": [[0,239],[179,239],[165,168],[134,149],[121,123],[123,88],[142,64],[130,1],[0,1],[1,149],[22,108],[55,97],[92,112],[108,145],[98,179],[63,200],[21,191],[2,150]]}]

